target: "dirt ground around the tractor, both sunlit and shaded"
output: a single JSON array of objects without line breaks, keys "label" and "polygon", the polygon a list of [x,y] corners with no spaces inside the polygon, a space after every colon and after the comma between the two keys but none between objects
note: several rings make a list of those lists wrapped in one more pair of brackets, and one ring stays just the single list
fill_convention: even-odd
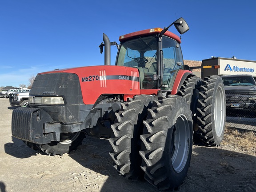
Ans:
[{"label": "dirt ground around the tractor, both sunlit and shaded", "polygon": [[[108,140],[85,138],[76,151],[48,156],[12,137],[12,110],[0,98],[1,192],[156,192],[146,181],[130,181],[112,167]],[[225,141],[225,138],[224,138]],[[254,145],[255,146],[255,145]],[[256,150],[234,144],[193,146],[188,176],[179,192],[256,191]]]}]

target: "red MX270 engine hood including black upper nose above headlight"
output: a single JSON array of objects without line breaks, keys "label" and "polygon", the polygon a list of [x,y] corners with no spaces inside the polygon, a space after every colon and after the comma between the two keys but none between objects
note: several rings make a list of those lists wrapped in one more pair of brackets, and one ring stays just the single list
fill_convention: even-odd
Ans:
[{"label": "red MX270 engine hood including black upper nose above headlight", "polygon": [[[77,79],[76,82],[73,81],[74,78]],[[55,92],[56,88],[67,89],[67,91],[68,89],[72,90],[73,84],[77,83],[80,84],[84,104],[94,104],[103,93],[105,95],[140,94],[138,69],[115,65],[68,68],[43,72],[36,76],[34,82],[37,87],[43,85],[44,88],[38,90],[43,90],[45,93]],[[34,84],[31,94],[43,94],[34,92]]]}]

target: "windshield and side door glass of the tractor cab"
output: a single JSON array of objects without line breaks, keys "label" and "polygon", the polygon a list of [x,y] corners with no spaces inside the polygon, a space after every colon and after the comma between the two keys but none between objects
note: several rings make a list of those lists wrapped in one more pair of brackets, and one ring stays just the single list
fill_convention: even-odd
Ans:
[{"label": "windshield and side door glass of the tractor cab", "polygon": [[[157,36],[138,37],[120,44],[116,65],[137,68],[140,73],[140,88],[157,88]],[[183,65],[180,44],[169,37],[162,38],[163,84],[162,89],[172,88],[172,78]]]}]

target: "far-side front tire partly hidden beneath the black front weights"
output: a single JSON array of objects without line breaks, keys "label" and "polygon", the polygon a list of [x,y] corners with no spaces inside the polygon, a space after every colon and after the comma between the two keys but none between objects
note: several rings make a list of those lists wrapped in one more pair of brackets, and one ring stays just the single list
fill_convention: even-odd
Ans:
[{"label": "far-side front tire partly hidden beneath the black front weights", "polygon": [[62,156],[64,153],[69,153],[82,143],[85,135],[84,132],[76,132],[76,133],[61,133],[60,141],[52,141],[49,144],[37,144],[37,147],[40,148],[43,152],[48,155]]}]

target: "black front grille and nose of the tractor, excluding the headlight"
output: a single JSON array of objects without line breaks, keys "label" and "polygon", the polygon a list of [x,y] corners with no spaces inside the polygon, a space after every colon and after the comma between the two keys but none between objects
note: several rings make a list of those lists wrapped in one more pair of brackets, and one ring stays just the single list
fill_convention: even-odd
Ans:
[{"label": "black front grille and nose of the tractor, excluding the headlight", "polygon": [[53,122],[74,124],[80,122],[80,105],[83,105],[79,77],[73,73],[47,73],[37,75],[29,96],[62,96],[64,105],[30,104],[42,108]]}]

